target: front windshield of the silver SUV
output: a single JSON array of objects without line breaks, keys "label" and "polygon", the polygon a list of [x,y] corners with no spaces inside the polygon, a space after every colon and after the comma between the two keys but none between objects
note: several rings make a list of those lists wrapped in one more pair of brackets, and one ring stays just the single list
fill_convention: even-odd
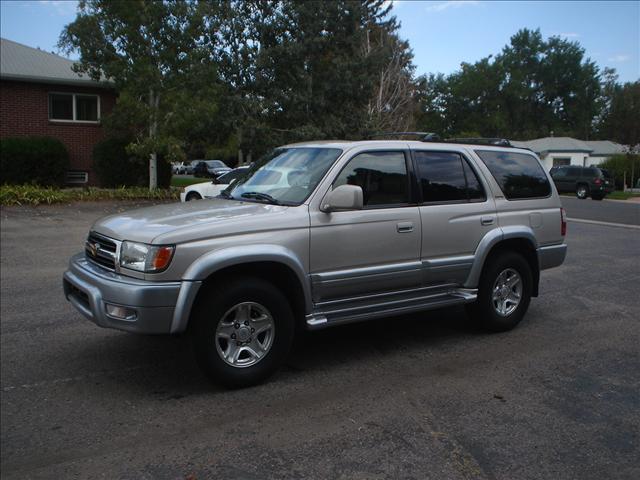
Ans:
[{"label": "front windshield of the silver SUV", "polygon": [[277,148],[223,192],[235,200],[300,205],[340,156],[337,148]]}]

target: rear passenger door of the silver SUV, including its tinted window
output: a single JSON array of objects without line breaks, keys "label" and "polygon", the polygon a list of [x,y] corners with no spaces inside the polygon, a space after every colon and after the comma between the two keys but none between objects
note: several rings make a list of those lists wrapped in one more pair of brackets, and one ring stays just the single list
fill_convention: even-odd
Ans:
[{"label": "rear passenger door of the silver SUV, including its tinted window", "polygon": [[460,151],[412,152],[421,194],[423,284],[462,284],[484,235],[496,228],[482,174]]}]

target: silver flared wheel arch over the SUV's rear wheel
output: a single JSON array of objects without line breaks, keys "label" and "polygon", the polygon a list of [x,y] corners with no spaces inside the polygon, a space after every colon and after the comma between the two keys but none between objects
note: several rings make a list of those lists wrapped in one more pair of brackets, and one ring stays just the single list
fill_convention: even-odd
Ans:
[{"label": "silver flared wheel arch over the SUV's rear wheel", "polygon": [[540,281],[540,265],[538,262],[538,241],[533,230],[526,226],[511,226],[492,230],[487,233],[478,244],[475,259],[467,281],[466,288],[477,288],[480,282],[480,275],[484,269],[487,259],[501,251],[514,251],[521,254],[529,267],[533,276],[532,296],[538,296],[538,285]]}]

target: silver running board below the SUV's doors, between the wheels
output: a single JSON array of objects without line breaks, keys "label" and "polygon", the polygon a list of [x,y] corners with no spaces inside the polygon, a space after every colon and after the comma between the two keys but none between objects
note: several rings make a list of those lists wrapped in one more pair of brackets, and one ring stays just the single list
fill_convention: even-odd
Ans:
[{"label": "silver running board below the SUV's doors, between the wheels", "polygon": [[320,306],[320,308],[312,314],[307,315],[307,328],[309,330],[319,330],[334,325],[373,320],[374,318],[462,305],[475,302],[477,297],[477,289],[456,288],[422,297],[371,302],[367,305],[352,306],[349,308],[331,309],[328,305],[326,307],[329,308],[322,308],[322,306]]}]

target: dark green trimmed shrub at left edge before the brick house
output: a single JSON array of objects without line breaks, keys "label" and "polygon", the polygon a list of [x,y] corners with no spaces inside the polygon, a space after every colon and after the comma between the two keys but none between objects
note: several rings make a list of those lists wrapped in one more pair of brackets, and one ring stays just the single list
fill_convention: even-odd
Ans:
[{"label": "dark green trimmed shrub at left edge before the brick house", "polygon": [[63,185],[69,152],[51,137],[14,137],[0,140],[1,183]]}]

